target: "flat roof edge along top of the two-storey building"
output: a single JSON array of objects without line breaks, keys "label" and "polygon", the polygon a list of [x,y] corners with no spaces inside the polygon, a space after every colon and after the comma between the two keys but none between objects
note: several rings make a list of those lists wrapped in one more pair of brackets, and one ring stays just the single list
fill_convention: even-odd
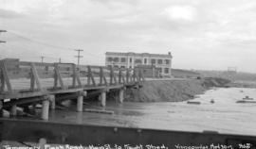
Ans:
[{"label": "flat roof edge along top of the two-storey building", "polygon": [[126,53],[122,53],[122,52],[106,52],[105,55],[173,58],[171,52],[169,52],[168,54],[150,54],[150,53],[135,53],[135,52],[126,52]]}]

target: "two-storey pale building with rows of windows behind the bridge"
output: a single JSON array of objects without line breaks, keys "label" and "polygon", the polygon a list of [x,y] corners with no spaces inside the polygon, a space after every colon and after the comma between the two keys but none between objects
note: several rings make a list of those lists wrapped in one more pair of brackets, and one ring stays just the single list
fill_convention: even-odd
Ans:
[{"label": "two-storey pale building with rows of windows behind the bridge", "polygon": [[149,54],[149,53],[119,53],[106,52],[105,53],[106,66],[113,66],[118,68],[135,68],[138,65],[154,65],[160,68],[161,75],[172,75],[172,54],[169,52],[163,54]]}]

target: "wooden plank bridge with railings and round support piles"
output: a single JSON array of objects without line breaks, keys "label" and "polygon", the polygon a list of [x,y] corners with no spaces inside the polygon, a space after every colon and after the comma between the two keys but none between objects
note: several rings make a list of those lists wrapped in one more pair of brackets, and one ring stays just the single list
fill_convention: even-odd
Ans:
[{"label": "wooden plank bridge with railings and round support piles", "polygon": [[[119,91],[119,102],[126,88],[139,88],[142,72],[104,66],[77,66],[74,63],[40,63],[7,59],[0,61],[0,108],[17,114],[17,106],[42,104],[42,119],[48,119],[49,108],[60,100],[76,99],[82,112],[83,98],[99,95],[106,105],[106,92]],[[6,100],[8,99],[8,100]]]}]

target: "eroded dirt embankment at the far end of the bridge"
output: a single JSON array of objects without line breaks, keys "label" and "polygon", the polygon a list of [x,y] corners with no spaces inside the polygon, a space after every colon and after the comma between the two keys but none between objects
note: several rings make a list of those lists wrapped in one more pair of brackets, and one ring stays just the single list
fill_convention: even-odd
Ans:
[{"label": "eroded dirt embankment at the far end of the bridge", "polygon": [[192,99],[210,87],[221,87],[229,83],[220,78],[189,80],[153,80],[145,81],[139,90],[125,92],[125,101],[133,102],[179,102]]}]

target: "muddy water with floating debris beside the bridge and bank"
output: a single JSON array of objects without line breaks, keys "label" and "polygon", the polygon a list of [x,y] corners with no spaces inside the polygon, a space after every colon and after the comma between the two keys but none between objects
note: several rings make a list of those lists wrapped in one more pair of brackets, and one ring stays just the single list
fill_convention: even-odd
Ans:
[{"label": "muddy water with floating debris beside the bridge and bank", "polygon": [[[123,103],[107,102],[106,110],[114,114],[77,113],[71,111],[51,111],[50,121],[76,124],[97,124],[127,126],[182,131],[204,130],[219,133],[256,135],[256,104],[237,104],[236,101],[246,95],[256,101],[256,89],[215,89],[206,91],[193,101],[171,103]],[[214,100],[214,104],[210,100]],[[97,108],[94,103],[87,103],[85,108]]]}]

